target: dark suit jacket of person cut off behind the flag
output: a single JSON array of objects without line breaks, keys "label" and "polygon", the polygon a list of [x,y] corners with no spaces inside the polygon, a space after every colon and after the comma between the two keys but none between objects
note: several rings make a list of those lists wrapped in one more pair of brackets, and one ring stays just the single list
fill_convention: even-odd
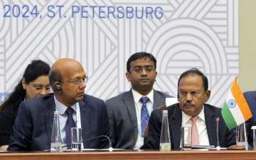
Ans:
[{"label": "dark suit jacket of person cut off behind the flag", "polygon": [[256,91],[247,91],[243,94],[252,112],[252,118],[246,122],[248,143],[252,146],[253,132],[251,127],[256,125]]}]

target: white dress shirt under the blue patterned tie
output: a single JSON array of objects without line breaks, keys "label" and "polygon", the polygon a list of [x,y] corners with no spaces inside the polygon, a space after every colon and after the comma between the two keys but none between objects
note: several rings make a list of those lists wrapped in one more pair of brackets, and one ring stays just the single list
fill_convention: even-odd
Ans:
[{"label": "white dress shirt under the blue patterned tie", "polygon": [[[137,136],[137,141],[134,146],[134,149],[139,149],[142,147],[144,143],[144,137],[142,137],[142,121],[141,121],[141,114],[142,114],[142,102],[139,101],[140,98],[145,97],[142,96],[140,93],[137,91],[134,91],[132,89],[132,94],[134,97],[134,105],[136,109],[136,114],[137,114],[137,123],[138,123],[138,136]],[[146,108],[149,112],[149,116],[153,110],[153,103],[154,103],[154,90],[152,89],[148,95],[146,95],[147,98],[149,98],[149,101],[146,103]]]}]

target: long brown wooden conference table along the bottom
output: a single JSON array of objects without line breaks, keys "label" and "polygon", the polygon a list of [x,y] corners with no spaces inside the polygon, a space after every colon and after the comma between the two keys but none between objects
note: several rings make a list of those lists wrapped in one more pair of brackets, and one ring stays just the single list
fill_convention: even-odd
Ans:
[{"label": "long brown wooden conference table along the bottom", "polygon": [[193,149],[187,151],[83,151],[83,152],[0,152],[0,160],[146,160],[146,159],[256,159],[254,150],[206,150]]}]

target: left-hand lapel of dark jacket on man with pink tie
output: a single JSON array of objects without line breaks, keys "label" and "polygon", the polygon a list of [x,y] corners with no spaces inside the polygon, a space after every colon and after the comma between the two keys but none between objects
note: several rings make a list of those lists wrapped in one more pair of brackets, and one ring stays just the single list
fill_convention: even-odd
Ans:
[{"label": "left-hand lapel of dark jacket on man with pink tie", "polygon": [[[172,112],[169,113],[170,122],[170,132],[171,132],[171,142],[173,142],[174,149],[180,148],[181,143],[181,122],[182,122],[182,111],[178,105],[174,105]],[[176,108],[176,109],[175,109]],[[174,113],[175,112],[175,113]]]}]

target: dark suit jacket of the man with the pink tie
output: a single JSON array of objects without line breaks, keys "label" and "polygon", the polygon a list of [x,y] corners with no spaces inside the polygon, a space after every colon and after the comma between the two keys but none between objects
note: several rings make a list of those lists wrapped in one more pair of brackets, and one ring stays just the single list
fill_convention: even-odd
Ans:
[{"label": "dark suit jacket of the man with the pink tie", "polygon": [[[206,118],[206,128],[208,133],[208,139],[210,145],[217,145],[217,134],[216,134],[216,118],[220,118],[219,121],[219,139],[220,147],[229,147],[235,144],[234,130],[228,130],[225,125],[222,116],[220,115],[220,108],[216,108],[213,105],[204,105],[204,114]],[[159,139],[161,134],[161,120],[162,110],[154,110],[149,118],[149,136],[145,137],[144,145],[142,149],[159,149]],[[181,142],[181,125],[182,125],[182,110],[179,108],[178,103],[171,105],[167,108],[169,118],[169,128],[171,135],[171,148],[179,149]]]}]

